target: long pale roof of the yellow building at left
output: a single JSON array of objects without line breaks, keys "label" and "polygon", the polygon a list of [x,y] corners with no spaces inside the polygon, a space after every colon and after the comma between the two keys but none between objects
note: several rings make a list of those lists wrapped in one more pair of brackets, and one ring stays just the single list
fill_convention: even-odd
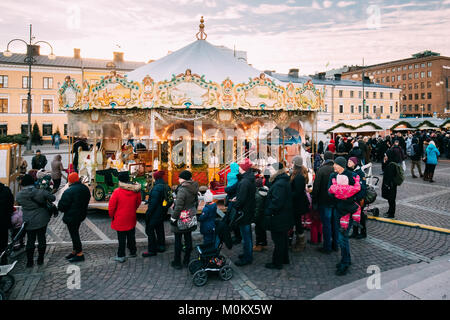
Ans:
[{"label": "long pale roof of the yellow building at left", "polygon": [[[12,65],[27,65],[25,63],[26,54],[13,53],[11,57],[5,57],[3,52],[0,54],[0,64]],[[35,56],[36,63],[34,66],[48,66],[48,67],[65,67],[65,68],[86,68],[86,69],[112,69],[108,68],[107,64],[113,62],[116,70],[131,71],[145,65],[145,62],[137,61],[112,61],[106,59],[91,59],[91,58],[74,58],[56,56],[56,59],[51,60],[46,55]]]}]

